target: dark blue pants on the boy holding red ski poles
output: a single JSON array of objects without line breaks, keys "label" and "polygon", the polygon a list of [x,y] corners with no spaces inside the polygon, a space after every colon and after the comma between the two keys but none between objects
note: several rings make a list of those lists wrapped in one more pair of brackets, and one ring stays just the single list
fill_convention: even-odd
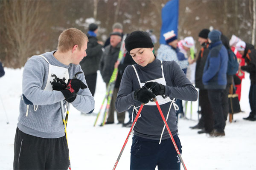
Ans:
[{"label": "dark blue pants on the boy holding red ski poles", "polygon": [[[181,144],[177,135],[173,136],[180,151]],[[159,144],[159,140],[151,140],[133,137],[131,145],[130,170],[180,170],[180,158],[172,143],[172,139],[165,139]]]}]

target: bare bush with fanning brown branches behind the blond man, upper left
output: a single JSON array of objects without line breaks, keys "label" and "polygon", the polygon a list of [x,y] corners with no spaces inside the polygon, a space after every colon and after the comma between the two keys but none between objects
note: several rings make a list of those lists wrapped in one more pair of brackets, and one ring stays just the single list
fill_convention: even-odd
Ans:
[{"label": "bare bush with fanning brown branches behind the blond man, upper left", "polygon": [[6,64],[21,67],[37,50],[46,16],[40,13],[40,1],[2,1],[1,5],[1,29],[5,31],[1,39],[3,42],[4,38],[6,44]]}]

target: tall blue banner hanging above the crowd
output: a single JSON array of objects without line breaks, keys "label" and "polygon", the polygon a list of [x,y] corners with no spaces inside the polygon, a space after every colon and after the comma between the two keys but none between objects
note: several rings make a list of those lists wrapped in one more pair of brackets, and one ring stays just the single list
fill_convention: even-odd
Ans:
[{"label": "tall blue banner hanging above the crowd", "polygon": [[170,0],[162,8],[162,28],[160,32],[160,44],[166,44],[163,34],[174,30],[178,37],[179,0]]}]

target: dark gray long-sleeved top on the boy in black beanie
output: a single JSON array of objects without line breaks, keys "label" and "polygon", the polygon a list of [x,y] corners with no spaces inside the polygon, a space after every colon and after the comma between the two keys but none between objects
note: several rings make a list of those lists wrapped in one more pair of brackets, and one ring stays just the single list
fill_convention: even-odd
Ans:
[{"label": "dark gray long-sleeved top on the boy in black beanie", "polygon": [[[161,62],[159,59],[155,59],[150,64],[142,67],[138,64],[134,65],[141,82],[146,82],[153,79],[162,77]],[[198,98],[198,92],[191,84],[189,79],[181,70],[180,66],[175,61],[163,61],[163,73],[166,80],[165,94],[171,99],[181,99],[187,101],[196,101]],[[122,77],[120,88],[116,98],[116,110],[118,112],[126,111],[131,105],[136,107],[141,103],[134,99],[134,91],[140,88],[137,76],[134,68],[131,65],[125,69]],[[167,116],[169,106],[171,102],[160,105],[163,111],[163,115]],[[139,110],[139,109],[138,109]],[[145,105],[141,111],[141,117],[137,120],[134,127],[134,135],[146,138],[159,140],[164,122],[160,116],[157,106]],[[136,113],[134,113],[133,119],[135,119]],[[167,124],[172,132],[172,135],[176,135],[177,130],[177,118],[175,108],[172,106]],[[170,136],[165,129],[162,139],[168,139]]]}]

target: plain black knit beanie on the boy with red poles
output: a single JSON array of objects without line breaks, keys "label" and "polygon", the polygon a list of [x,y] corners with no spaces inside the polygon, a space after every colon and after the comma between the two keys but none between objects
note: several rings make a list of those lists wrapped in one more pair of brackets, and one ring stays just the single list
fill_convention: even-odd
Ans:
[{"label": "plain black knit beanie on the boy with red poles", "polygon": [[125,48],[130,53],[134,48],[151,48],[154,47],[149,34],[144,31],[134,31],[125,39]]}]

